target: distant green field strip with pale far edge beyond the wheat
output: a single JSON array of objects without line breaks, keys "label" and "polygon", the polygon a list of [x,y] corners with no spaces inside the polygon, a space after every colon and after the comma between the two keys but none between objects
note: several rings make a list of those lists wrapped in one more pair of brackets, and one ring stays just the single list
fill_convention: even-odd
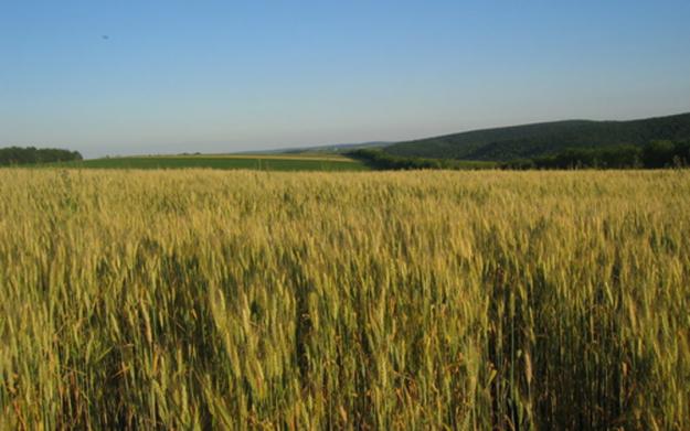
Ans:
[{"label": "distant green field strip with pale far edge beyond the wheat", "polygon": [[368,171],[362,162],[335,154],[319,155],[155,155],[83,160],[51,166],[92,169],[209,168],[261,171]]}]

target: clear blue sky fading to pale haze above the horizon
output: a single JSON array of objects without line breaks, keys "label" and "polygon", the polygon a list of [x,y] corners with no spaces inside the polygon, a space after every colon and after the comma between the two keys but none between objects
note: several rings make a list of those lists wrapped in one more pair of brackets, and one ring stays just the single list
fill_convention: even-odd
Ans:
[{"label": "clear blue sky fading to pale haze above the horizon", "polygon": [[0,147],[230,152],[682,111],[688,0],[0,0]]}]

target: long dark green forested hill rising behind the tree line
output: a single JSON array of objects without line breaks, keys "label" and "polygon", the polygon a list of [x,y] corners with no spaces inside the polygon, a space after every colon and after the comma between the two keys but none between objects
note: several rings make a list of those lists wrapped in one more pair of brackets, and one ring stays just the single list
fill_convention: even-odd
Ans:
[{"label": "long dark green forested hill rising behind the tree line", "polygon": [[690,139],[690,114],[633,121],[571,120],[503,127],[400,142],[395,155],[510,161],[556,154],[566,149],[645,146]]}]

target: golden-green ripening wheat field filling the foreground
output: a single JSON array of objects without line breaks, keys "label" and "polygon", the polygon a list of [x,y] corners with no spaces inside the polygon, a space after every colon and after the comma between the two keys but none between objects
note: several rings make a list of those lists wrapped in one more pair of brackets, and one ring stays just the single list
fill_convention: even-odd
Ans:
[{"label": "golden-green ripening wheat field filling the foreground", "polygon": [[690,428],[690,172],[0,170],[4,429]]}]

